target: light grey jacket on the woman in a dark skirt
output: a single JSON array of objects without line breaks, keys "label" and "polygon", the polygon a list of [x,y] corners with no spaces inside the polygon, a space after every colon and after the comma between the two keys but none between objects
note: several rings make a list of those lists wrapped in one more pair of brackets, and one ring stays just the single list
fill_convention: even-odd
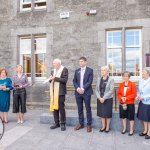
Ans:
[{"label": "light grey jacket on the woman in a dark skirt", "polygon": [[[98,78],[96,89],[95,89],[95,94],[96,94],[97,99],[99,99],[101,95],[101,92],[99,89],[100,82],[101,82],[101,77]],[[113,98],[113,95],[114,95],[114,79],[112,77],[109,77],[106,88],[105,88],[105,92],[104,92],[104,99],[106,100],[109,98]]]}]

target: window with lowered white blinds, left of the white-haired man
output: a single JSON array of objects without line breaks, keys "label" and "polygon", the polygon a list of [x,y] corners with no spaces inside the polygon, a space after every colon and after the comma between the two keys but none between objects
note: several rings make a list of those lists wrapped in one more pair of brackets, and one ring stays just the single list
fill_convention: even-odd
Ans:
[{"label": "window with lowered white blinds, left of the white-haired man", "polygon": [[[32,41],[34,41],[33,48],[31,47]],[[38,80],[46,78],[47,66],[45,58],[46,35],[20,37],[20,64],[28,77]]]}]

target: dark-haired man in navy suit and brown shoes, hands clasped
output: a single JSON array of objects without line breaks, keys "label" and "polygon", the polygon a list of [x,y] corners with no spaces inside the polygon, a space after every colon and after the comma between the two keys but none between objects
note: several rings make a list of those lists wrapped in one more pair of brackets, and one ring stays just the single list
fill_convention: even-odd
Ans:
[{"label": "dark-haired man in navy suit and brown shoes, hands clasped", "polygon": [[75,71],[73,84],[75,87],[75,97],[78,106],[79,124],[75,130],[84,127],[83,102],[86,107],[87,115],[87,132],[91,132],[92,112],[91,112],[91,95],[93,94],[93,69],[87,67],[87,59],[81,57],[79,59],[80,68]]}]

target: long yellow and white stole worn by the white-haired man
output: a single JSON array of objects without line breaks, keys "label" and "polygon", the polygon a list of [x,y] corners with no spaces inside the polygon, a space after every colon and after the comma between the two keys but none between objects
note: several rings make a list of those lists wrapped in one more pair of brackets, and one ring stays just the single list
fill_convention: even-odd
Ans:
[{"label": "long yellow and white stole worn by the white-haired man", "polygon": [[[57,71],[54,69],[53,76],[60,78],[64,67],[61,66]],[[59,100],[59,82],[52,81],[50,83],[50,111],[53,112],[54,110],[59,109],[58,100]]]}]

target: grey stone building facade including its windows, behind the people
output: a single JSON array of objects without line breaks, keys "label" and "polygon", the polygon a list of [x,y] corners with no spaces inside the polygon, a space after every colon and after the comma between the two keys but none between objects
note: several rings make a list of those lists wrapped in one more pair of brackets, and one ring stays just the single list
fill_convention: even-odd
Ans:
[{"label": "grey stone building facade including its windows, behind the people", "polygon": [[[138,80],[149,63],[150,0],[0,2],[0,68],[6,67],[12,77],[16,65],[24,65],[30,80],[28,102],[48,103],[49,85],[43,81],[51,74],[54,58],[69,69],[68,103],[74,101],[72,79],[80,56],[94,69],[93,84],[100,66],[108,65],[118,82],[124,70]],[[63,12],[69,17],[61,19]]]}]

